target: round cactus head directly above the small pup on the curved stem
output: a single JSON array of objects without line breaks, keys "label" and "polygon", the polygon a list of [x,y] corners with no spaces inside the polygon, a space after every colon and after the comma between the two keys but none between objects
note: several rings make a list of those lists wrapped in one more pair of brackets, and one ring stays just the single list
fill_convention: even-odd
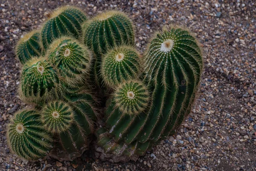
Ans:
[{"label": "round cactus head directly above the small pup on the curved stem", "polygon": [[108,87],[136,79],[142,70],[140,55],[131,46],[119,46],[109,51],[102,60],[101,76]]}]

